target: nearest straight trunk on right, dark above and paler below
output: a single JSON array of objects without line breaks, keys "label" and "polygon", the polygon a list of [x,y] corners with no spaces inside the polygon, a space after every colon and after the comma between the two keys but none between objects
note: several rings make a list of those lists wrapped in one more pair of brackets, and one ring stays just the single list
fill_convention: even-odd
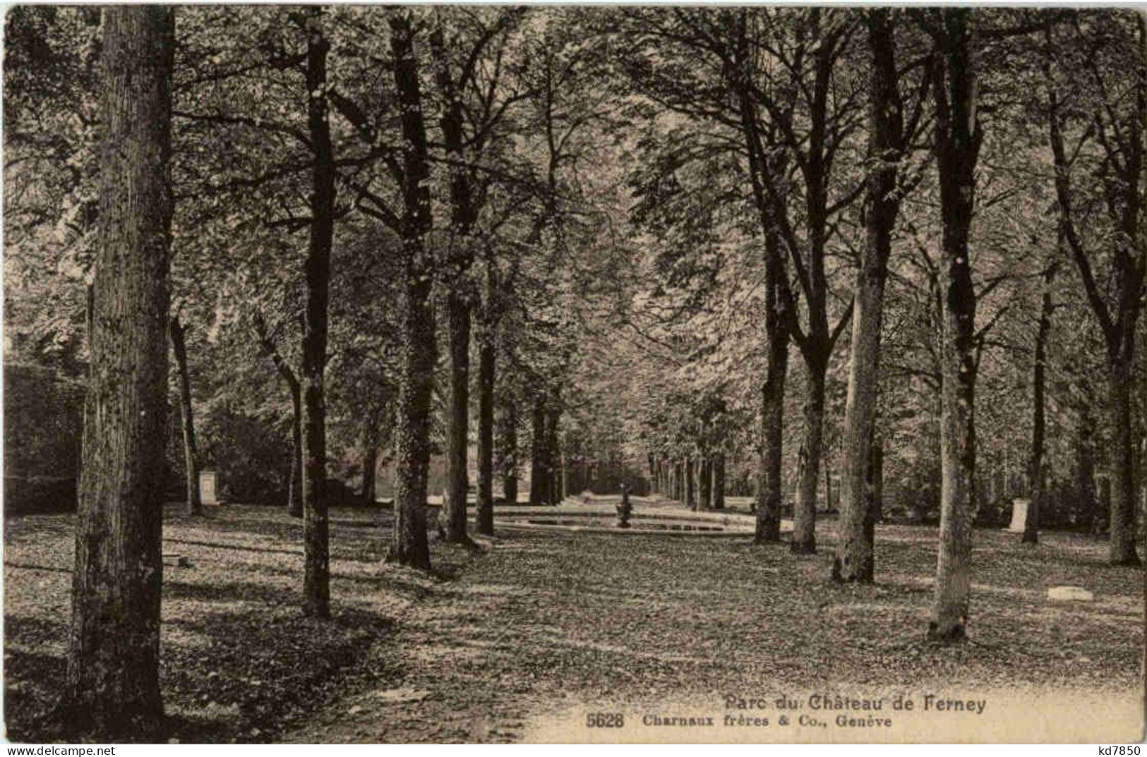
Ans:
[{"label": "nearest straight trunk on right, dark above and paler below", "polygon": [[939,170],[946,294],[941,340],[941,522],[936,595],[929,638],[959,641],[972,585],[972,489],[975,481],[976,295],[968,259],[975,166],[983,133],[976,123],[972,11],[945,8],[933,97]]}]

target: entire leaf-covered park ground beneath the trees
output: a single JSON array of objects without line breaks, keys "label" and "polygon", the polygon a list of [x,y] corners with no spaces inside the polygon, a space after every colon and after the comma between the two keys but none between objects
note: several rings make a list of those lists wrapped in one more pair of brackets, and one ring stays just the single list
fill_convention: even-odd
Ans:
[{"label": "entire leaf-covered park ground beneath the trees", "polygon": [[[333,510],[334,618],[319,622],[298,610],[298,521],[247,506],[167,518],[164,553],[192,563],[164,569],[172,739],[584,741],[622,738],[587,731],[586,713],[720,716],[728,694],[1086,690],[1141,702],[1144,572],[1105,564],[1106,543],[1086,536],[1028,546],[976,531],[969,640],[943,647],[924,639],[935,528],[877,526],[876,583],[838,586],[830,521],[807,557],[740,538],[504,530],[481,551],[432,540],[427,576],[382,562],[389,520]],[[47,716],[65,672],[73,522],[5,524],[15,741],[61,738]],[[1061,584],[1095,599],[1048,600]],[[709,740],[725,738],[765,736]]]}]

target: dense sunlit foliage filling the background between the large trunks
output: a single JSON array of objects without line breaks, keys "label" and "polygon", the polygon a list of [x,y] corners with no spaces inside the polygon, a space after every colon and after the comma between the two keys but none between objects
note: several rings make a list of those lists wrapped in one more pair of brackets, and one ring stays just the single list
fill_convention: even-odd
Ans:
[{"label": "dense sunlit foliage filling the background between the large trunks", "polygon": [[[865,15],[828,9],[340,7],[305,18],[289,8],[180,9],[173,313],[187,326],[200,465],[220,471],[224,494],[283,502],[292,491],[296,411],[283,368],[297,376],[303,359],[317,159],[307,103],[319,96],[336,187],[327,475],[374,489],[361,491],[368,498],[391,492],[407,301],[390,25],[399,14],[413,24],[428,140],[432,223],[420,275],[432,278],[439,313],[435,459],[459,412],[470,416],[471,445],[481,434],[482,392],[460,411],[450,391],[459,357],[447,314],[461,303],[473,321],[471,377],[482,345],[497,345],[498,490],[506,476],[530,489],[538,467],[552,481],[532,485],[548,481],[553,499],[560,479],[599,491],[622,479],[664,486],[666,465],[719,458],[725,486],[752,493],[777,243],[783,280],[773,286],[788,302],[793,353],[781,491],[790,507],[811,476],[816,506],[836,507],[871,206],[873,69]],[[945,286],[928,78],[937,28],[923,11],[894,22],[911,143],[898,163],[874,444],[884,515],[930,521]],[[978,522],[998,524],[1031,487],[1032,361],[1047,290],[1043,518],[1099,526],[1115,465],[1114,358],[1103,356],[1133,354],[1129,381],[1144,385],[1144,351],[1132,349],[1145,338],[1136,305],[1144,231],[1133,217],[1142,195],[1129,173],[1144,150],[1142,24],[1123,13],[1035,10],[983,10],[974,22],[983,143],[969,242],[973,507]],[[87,359],[100,16],[22,7],[7,24],[6,465],[9,476],[67,478],[79,463],[69,439]],[[315,33],[329,45],[319,93],[305,84]],[[746,141],[744,112],[756,142]],[[767,165],[754,167],[754,145]],[[755,196],[760,175],[765,194]],[[1131,329],[1126,346],[1113,346],[1116,327]],[[1131,397],[1141,468],[1144,392]],[[174,492],[184,461],[179,424],[171,428]],[[367,468],[380,471],[377,485]],[[476,468],[467,473],[473,479]],[[445,485],[431,474],[431,493]]]}]

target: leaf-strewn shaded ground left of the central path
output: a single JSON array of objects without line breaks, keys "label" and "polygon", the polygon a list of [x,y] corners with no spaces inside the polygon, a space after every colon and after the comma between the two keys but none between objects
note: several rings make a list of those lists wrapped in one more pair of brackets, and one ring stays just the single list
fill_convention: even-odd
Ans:
[{"label": "leaf-strewn shaded ground left of the central path", "polygon": [[[341,518],[348,520],[348,518]],[[380,518],[389,520],[389,518]],[[68,738],[56,704],[64,690],[72,516],[6,524],[6,708],[8,739]],[[164,524],[161,687],[169,736],[181,742],[276,741],[362,679],[398,674],[364,660],[428,586],[381,562],[389,523],[331,530],[329,621],[304,617],[297,521],[271,508],[221,508]],[[440,561],[455,573],[465,551]],[[29,569],[23,564],[50,570]]]}]

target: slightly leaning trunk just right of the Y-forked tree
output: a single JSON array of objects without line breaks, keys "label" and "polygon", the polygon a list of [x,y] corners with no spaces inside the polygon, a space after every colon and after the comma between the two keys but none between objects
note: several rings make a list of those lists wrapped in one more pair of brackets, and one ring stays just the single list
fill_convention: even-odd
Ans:
[{"label": "slightly leaning trunk just right of the Y-forked tree", "polygon": [[868,52],[868,158],[866,234],[860,252],[852,310],[852,359],[844,408],[844,461],[841,471],[841,515],[833,576],[844,582],[873,580],[873,533],[868,466],[873,453],[876,389],[880,383],[880,331],[884,313],[884,281],[892,251],[892,231],[900,202],[897,165],[904,151],[904,124],[896,75],[896,37],[891,13],[871,9]]}]

